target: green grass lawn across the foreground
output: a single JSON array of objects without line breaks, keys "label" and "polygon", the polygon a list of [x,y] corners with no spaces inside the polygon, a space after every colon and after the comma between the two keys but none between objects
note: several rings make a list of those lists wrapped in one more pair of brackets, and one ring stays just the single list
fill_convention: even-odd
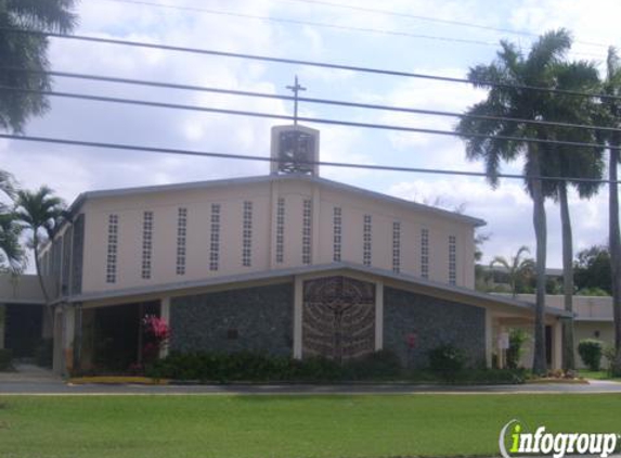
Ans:
[{"label": "green grass lawn across the foreground", "polygon": [[0,396],[0,457],[497,456],[510,419],[621,432],[619,411],[613,394]]}]

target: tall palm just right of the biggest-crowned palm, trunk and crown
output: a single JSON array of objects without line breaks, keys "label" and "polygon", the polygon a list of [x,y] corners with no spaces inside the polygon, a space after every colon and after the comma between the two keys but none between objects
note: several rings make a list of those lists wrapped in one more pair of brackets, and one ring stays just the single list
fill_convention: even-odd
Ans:
[{"label": "tall palm just right of the biggest-crowned palm, trunk and crown", "polygon": [[[554,68],[556,88],[567,91],[596,91],[599,77],[595,65],[588,62],[560,63]],[[545,117],[572,124],[593,124],[597,104],[591,98],[557,94],[549,100]],[[555,128],[551,135],[556,140],[596,143],[594,129]],[[603,149],[577,149],[566,145],[551,145],[543,162],[545,176],[566,178],[601,179],[604,174]],[[581,199],[590,199],[599,190],[597,181],[545,180],[544,194],[552,195],[559,203],[562,230],[562,283],[565,309],[573,313],[573,240],[569,213],[568,187],[572,186]],[[575,369],[573,358],[573,317],[562,320],[562,368]]]}]

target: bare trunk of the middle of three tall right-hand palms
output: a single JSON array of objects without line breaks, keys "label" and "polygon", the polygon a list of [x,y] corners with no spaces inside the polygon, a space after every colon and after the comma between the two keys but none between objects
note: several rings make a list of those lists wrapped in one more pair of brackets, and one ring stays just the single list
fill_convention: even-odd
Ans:
[{"label": "bare trunk of the middle of three tall right-hand palms", "polygon": [[[558,188],[560,203],[560,224],[562,227],[562,293],[565,309],[573,313],[573,237],[571,233],[571,217],[567,201],[567,182]],[[562,369],[574,370],[573,358],[573,316],[562,319]]]}]

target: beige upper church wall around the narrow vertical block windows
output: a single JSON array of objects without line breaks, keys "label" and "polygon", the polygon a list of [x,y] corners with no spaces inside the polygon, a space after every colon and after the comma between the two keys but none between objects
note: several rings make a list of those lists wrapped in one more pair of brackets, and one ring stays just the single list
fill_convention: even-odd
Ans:
[{"label": "beige upper church wall around the narrow vertical block windows", "polygon": [[[285,199],[284,262],[276,263],[276,202]],[[457,241],[456,283],[474,288],[474,228],[452,216],[407,208],[309,181],[276,180],[91,199],[86,214],[82,291],[109,291],[302,265],[302,206],[313,202],[312,264],[333,262],[333,212],[342,209],[341,260],[363,263],[363,217],[372,215],[372,266],[392,269],[392,222],[401,222],[401,271],[421,275],[421,230],[429,230],[429,278],[449,282],[449,237]],[[242,265],[244,201],[253,202],[251,266]],[[220,265],[209,270],[210,206],[221,205]],[[187,208],[185,275],[176,272],[178,208]],[[142,279],[143,212],[154,213],[153,270]],[[108,215],[118,215],[115,283],[106,282]]]}]

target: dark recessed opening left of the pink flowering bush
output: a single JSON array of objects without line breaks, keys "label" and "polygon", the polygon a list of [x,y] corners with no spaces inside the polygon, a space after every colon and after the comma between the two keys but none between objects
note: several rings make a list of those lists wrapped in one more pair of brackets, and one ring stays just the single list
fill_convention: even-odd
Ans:
[{"label": "dark recessed opening left of the pink flowering bush", "polygon": [[98,370],[125,372],[140,362],[145,315],[159,315],[159,301],[94,309],[93,362]]}]

